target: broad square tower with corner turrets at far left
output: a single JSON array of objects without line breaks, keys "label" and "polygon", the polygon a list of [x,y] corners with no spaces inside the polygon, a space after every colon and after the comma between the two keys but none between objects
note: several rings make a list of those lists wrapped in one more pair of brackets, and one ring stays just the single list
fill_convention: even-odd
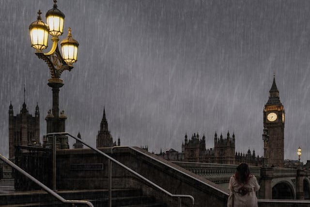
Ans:
[{"label": "broad square tower with corner turrets at far left", "polygon": [[38,104],[35,107],[34,117],[28,112],[23,103],[20,113],[14,116],[12,103],[9,106],[9,159],[15,157],[15,146],[36,145],[40,143],[40,112]]}]

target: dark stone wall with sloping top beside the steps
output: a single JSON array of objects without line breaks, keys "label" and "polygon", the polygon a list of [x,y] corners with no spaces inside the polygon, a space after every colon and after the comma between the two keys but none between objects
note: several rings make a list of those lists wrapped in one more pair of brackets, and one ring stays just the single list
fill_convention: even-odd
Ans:
[{"label": "dark stone wall with sloping top beside the steps", "polygon": [[[192,195],[197,207],[205,207],[207,204],[226,207],[228,194],[216,184],[151,153],[136,151],[137,149],[140,148],[118,147],[114,149],[112,157],[172,194]],[[110,148],[100,150],[110,152]],[[83,169],[86,164],[93,164],[93,169]],[[99,169],[99,164],[102,164],[102,169]],[[58,150],[57,166],[62,166],[57,169],[58,189],[108,187],[108,160],[89,149]],[[95,169],[96,166],[98,169]],[[157,201],[165,202],[171,207],[177,206],[177,198],[171,199],[166,193],[141,181],[117,164],[112,164],[112,188],[141,188],[143,193],[155,196]],[[190,203],[190,199],[182,199],[182,206],[191,206]]]}]

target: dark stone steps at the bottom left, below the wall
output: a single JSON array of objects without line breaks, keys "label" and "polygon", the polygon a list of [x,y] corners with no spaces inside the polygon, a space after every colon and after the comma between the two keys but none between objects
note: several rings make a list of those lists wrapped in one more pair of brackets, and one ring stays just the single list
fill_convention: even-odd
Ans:
[{"label": "dark stone steps at the bottom left, below the wall", "polygon": [[[108,190],[57,191],[66,200],[88,200],[94,207],[108,207]],[[166,207],[153,196],[143,195],[140,189],[112,190],[112,207]],[[63,204],[45,191],[15,191],[0,193],[0,207],[72,207]],[[87,207],[77,205],[76,207]]]}]

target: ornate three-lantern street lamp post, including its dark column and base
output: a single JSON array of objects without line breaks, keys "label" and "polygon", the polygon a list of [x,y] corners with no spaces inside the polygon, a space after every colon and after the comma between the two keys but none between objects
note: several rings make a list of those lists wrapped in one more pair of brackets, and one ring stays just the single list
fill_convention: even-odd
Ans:
[{"label": "ornate three-lantern street lamp post, including its dark column and base", "polygon": [[[62,111],[59,114],[59,91],[63,86],[60,76],[64,70],[72,70],[73,63],[77,62],[78,56],[78,42],[73,39],[71,29],[68,29],[68,36],[62,40],[62,55],[59,51],[58,36],[62,35],[64,14],[57,8],[57,0],[54,0],[54,6],[47,11],[47,24],[41,19],[41,11],[38,12],[37,20],[32,22],[29,26],[31,36],[31,47],[35,48],[35,54],[38,58],[44,60],[50,71],[51,78],[48,80],[47,85],[52,88],[53,94],[53,108],[48,111],[47,120],[47,133],[63,132],[65,131],[66,116]],[[52,48],[49,52],[44,53],[42,50],[47,48],[48,33],[52,36]],[[46,138],[43,146],[50,148],[52,145],[51,138]],[[57,148],[69,148],[68,138],[58,137]]]}]

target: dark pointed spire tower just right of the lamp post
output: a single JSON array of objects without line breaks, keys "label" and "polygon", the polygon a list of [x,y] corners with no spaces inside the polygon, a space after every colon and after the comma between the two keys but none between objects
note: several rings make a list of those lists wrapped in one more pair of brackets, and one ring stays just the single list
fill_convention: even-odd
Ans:
[{"label": "dark pointed spire tower just right of the lamp post", "polygon": [[[121,145],[120,138],[118,138],[118,146]],[[116,141],[113,143],[113,138],[109,131],[108,121],[106,118],[105,108],[103,109],[103,117],[100,123],[100,130],[98,131],[98,135],[96,138],[96,147],[113,147],[116,146]]]}]

